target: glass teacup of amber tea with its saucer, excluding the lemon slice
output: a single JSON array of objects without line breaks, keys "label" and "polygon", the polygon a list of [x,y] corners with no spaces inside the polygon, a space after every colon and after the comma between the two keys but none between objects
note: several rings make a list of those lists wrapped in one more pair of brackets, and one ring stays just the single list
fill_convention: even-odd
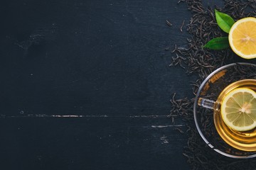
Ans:
[{"label": "glass teacup of amber tea with its saucer, excluding the lemon slice", "polygon": [[238,132],[220,115],[222,98],[238,87],[256,91],[256,65],[228,64],[212,72],[201,84],[194,103],[196,128],[206,144],[227,157],[256,157],[256,130]]}]

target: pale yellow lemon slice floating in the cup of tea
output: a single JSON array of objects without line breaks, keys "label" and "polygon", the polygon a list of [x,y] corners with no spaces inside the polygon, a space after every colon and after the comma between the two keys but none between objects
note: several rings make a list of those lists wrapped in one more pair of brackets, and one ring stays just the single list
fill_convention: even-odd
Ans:
[{"label": "pale yellow lemon slice floating in the cup of tea", "polygon": [[230,91],[220,106],[223,121],[237,131],[256,127],[256,93],[251,89],[238,88]]}]

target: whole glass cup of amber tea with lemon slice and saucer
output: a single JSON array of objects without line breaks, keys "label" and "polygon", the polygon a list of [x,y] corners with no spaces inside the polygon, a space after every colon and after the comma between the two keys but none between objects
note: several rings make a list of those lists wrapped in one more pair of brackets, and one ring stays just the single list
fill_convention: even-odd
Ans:
[{"label": "whole glass cup of amber tea with lemon slice and saucer", "polygon": [[256,65],[216,69],[201,84],[194,119],[208,146],[227,157],[256,157]]}]

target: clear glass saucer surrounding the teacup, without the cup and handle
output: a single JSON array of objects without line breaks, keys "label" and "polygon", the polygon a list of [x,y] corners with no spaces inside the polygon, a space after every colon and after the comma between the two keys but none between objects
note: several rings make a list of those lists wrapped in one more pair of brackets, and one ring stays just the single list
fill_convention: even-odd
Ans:
[{"label": "clear glass saucer surrounding the teacup, without the cup and handle", "polygon": [[226,157],[247,159],[256,157],[256,151],[247,152],[228,145],[215,128],[213,110],[198,106],[199,98],[216,101],[226,86],[241,79],[256,79],[256,65],[241,62],[233,63],[220,67],[209,74],[197,91],[193,115],[199,134],[211,149]]}]

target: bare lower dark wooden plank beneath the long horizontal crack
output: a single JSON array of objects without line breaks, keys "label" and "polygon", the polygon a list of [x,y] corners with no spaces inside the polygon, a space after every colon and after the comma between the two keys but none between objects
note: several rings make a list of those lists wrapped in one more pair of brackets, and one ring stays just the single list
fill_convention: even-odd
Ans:
[{"label": "bare lower dark wooden plank beneath the long horizontal crack", "polygon": [[[169,118],[26,118],[0,121],[3,137],[0,157],[2,165],[8,165],[9,169],[186,167],[181,154],[181,143],[186,142],[186,135],[181,135],[172,126],[157,127],[163,123],[169,125]],[[16,163],[11,164],[14,161]]]}]

